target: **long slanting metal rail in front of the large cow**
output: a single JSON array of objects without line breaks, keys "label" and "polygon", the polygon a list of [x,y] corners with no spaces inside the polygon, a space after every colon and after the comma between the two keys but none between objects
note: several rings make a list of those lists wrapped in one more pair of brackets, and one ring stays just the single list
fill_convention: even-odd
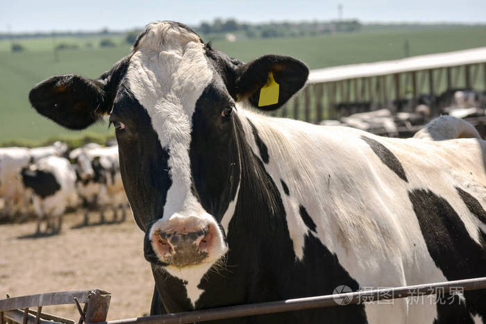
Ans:
[{"label": "long slanting metal rail in front of the large cow", "polygon": [[346,305],[377,300],[406,298],[411,296],[427,296],[441,293],[451,293],[457,288],[464,291],[486,289],[486,277],[468,280],[455,280],[438,282],[435,284],[418,284],[415,286],[395,287],[389,289],[376,289],[372,291],[358,291],[353,293],[340,293],[337,295],[316,296],[309,298],[296,298],[276,302],[260,302],[258,304],[219,307],[194,312],[181,312],[158,316],[139,318],[126,318],[118,321],[108,321],[103,324],[132,324],[132,323],[193,323],[235,318],[252,315],[262,315],[280,312],[291,312],[301,309],[318,307],[332,307],[340,305],[337,301],[346,301]]}]

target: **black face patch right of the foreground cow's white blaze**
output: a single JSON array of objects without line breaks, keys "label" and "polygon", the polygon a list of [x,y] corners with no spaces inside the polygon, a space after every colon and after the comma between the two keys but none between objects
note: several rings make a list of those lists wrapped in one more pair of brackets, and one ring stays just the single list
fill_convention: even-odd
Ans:
[{"label": "black face patch right of the foreground cow's white blaze", "polygon": [[233,115],[221,117],[232,103],[222,89],[220,83],[210,83],[196,101],[189,150],[193,194],[216,221],[234,200],[240,180]]}]

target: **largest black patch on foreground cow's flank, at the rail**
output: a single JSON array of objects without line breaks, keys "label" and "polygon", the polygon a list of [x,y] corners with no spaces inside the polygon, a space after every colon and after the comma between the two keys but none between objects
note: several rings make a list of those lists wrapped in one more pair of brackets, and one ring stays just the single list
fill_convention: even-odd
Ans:
[{"label": "largest black patch on foreground cow's flank, at the rail", "polygon": [[[446,276],[447,280],[460,280],[486,276],[486,252],[482,246],[469,236],[460,216],[442,197],[430,190],[414,189],[408,192],[413,209],[419,221],[420,230],[427,244],[428,252],[435,265]],[[467,323],[471,320],[469,313],[480,314],[486,318],[486,289],[465,291],[466,308],[455,305],[455,312],[467,321],[448,322],[447,305],[437,305],[438,318],[444,322]],[[472,323],[472,322],[470,322]]]}]

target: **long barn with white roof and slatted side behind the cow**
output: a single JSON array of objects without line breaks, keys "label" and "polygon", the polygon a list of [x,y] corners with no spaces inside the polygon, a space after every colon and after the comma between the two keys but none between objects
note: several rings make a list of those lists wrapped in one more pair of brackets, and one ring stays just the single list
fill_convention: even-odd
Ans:
[{"label": "long barn with white roof and slatted side behind the cow", "polygon": [[299,96],[274,114],[319,123],[380,108],[407,112],[426,103],[432,119],[458,89],[486,91],[486,47],[314,69]]}]

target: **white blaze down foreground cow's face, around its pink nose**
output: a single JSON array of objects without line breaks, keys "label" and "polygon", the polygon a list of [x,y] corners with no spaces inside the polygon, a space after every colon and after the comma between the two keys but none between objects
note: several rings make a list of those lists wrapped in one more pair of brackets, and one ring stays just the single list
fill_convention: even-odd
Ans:
[{"label": "white blaze down foreground cow's face, around its pink nose", "polygon": [[227,250],[219,226],[191,191],[192,114],[196,101],[212,82],[213,73],[197,35],[174,24],[158,22],[151,24],[140,40],[126,74],[128,87],[151,117],[160,145],[169,150],[167,164],[172,185],[167,191],[164,215],[151,231],[174,216],[198,216],[217,230],[219,241],[207,262],[187,268],[166,267],[171,275],[187,281],[187,296],[193,305],[203,292],[197,288],[201,278]]}]

